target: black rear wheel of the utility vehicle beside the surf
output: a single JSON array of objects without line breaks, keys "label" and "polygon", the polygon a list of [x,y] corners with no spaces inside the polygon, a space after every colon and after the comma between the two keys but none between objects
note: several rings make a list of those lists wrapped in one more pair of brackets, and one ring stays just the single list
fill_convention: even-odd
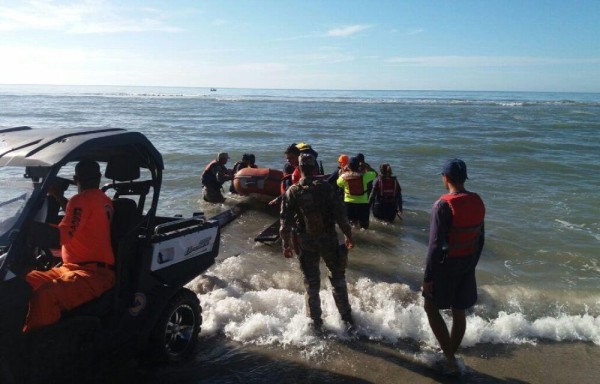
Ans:
[{"label": "black rear wheel of the utility vehicle beside the surf", "polygon": [[171,298],[150,334],[149,356],[155,362],[177,362],[198,343],[202,308],[196,294],[182,288]]}]

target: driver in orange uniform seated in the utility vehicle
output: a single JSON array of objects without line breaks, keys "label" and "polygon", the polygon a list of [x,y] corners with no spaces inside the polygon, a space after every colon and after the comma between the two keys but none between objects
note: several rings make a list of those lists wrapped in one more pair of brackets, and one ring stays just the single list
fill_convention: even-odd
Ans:
[{"label": "driver in orange uniform seated in the utility vehicle", "polygon": [[48,192],[65,211],[58,224],[62,264],[27,274],[33,293],[24,331],[57,322],[62,312],[100,296],[115,284],[110,238],[113,207],[99,189],[100,177],[98,163],[82,160],[75,166],[75,196],[67,200],[54,186]]}]

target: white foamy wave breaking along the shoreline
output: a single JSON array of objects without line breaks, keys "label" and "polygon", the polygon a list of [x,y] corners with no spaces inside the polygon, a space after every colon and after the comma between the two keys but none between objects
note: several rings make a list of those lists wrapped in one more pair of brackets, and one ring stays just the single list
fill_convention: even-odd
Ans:
[{"label": "white foamy wave breaking along the shoreline", "polygon": [[[202,335],[222,333],[241,343],[295,346],[311,356],[321,354],[327,345],[314,335],[305,315],[299,270],[248,275],[246,267],[251,263],[244,256],[231,257],[211,270],[211,275],[190,283],[204,308]],[[494,312],[490,308],[495,306],[489,303],[494,298],[489,291],[493,290],[488,290],[480,300],[483,303],[467,317],[464,346],[536,343],[541,339],[600,345],[600,316],[589,312],[570,314],[558,308],[555,314],[531,317],[515,303]],[[361,336],[390,344],[408,339],[426,348],[437,345],[420,292],[406,284],[359,278],[349,283],[349,293]],[[323,284],[321,290],[321,306],[325,329],[333,337],[347,338],[328,284]],[[450,321],[449,314],[444,316]]]}]

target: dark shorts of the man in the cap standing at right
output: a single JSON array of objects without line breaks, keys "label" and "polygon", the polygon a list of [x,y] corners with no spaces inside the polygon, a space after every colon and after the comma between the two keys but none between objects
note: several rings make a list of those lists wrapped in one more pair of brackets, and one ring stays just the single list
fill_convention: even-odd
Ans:
[{"label": "dark shorts of the man in the cap standing at right", "polygon": [[477,282],[473,259],[446,258],[438,268],[433,277],[433,301],[438,309],[467,309],[475,305]]}]

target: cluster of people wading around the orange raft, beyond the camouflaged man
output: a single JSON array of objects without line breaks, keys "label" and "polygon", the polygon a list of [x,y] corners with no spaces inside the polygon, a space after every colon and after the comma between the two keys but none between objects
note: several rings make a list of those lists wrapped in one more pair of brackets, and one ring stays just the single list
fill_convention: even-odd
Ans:
[{"label": "cluster of people wading around the orange raft, beyond the camouflaged man", "polygon": [[[315,159],[318,157],[318,153],[306,143],[293,143],[285,150],[286,163],[283,167],[281,194],[270,201],[270,205],[280,203],[285,191],[300,180],[298,157],[303,153],[311,154]],[[225,152],[219,153],[202,173],[204,200],[212,203],[225,201],[223,184],[232,181],[240,169],[257,168],[255,159],[254,154],[246,153],[233,168],[227,169],[225,165],[229,155]],[[323,166],[318,163],[313,176],[327,180],[334,187],[344,203],[348,219],[356,227],[369,228],[371,211],[375,218],[390,223],[396,217],[402,218],[402,188],[392,174],[389,164],[381,164],[378,173],[365,161],[362,153],[354,157],[341,154],[334,172],[324,175]],[[233,182],[229,191],[236,193]]]}]

